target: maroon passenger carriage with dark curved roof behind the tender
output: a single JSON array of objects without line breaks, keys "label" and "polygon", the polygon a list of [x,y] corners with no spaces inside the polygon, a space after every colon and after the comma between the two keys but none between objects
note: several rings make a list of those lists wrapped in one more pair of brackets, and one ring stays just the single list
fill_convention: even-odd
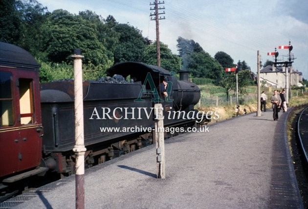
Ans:
[{"label": "maroon passenger carriage with dark curved roof behind the tender", "polygon": [[43,135],[39,67],[27,51],[0,42],[1,188],[46,170],[39,167]]}]

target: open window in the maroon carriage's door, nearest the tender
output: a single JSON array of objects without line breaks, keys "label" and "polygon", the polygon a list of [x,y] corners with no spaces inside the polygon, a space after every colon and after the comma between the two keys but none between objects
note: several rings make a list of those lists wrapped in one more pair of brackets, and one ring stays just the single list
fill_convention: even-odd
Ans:
[{"label": "open window in the maroon carriage's door, nearest the tender", "polygon": [[21,124],[32,124],[34,123],[32,79],[19,79],[19,95]]}]

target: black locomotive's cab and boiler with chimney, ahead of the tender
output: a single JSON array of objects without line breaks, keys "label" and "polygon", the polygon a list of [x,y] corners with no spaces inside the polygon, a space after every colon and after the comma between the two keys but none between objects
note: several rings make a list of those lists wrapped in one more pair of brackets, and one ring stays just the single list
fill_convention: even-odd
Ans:
[{"label": "black locomotive's cab and boiler with chimney, ahead of the tender", "polygon": [[[181,123],[180,119],[184,119],[184,114],[189,111],[198,114],[194,106],[200,99],[200,89],[198,85],[188,81],[188,71],[180,71],[178,81],[170,71],[162,67],[139,62],[124,62],[113,65],[107,70],[107,74],[109,76],[120,74],[124,78],[130,76],[134,83],[142,84],[142,94],[140,93],[135,102],[141,102],[142,97],[151,97],[153,106],[155,103],[162,103],[164,118],[174,119],[165,120],[164,124]],[[167,97],[159,94],[159,85],[164,79],[168,80]]]}]

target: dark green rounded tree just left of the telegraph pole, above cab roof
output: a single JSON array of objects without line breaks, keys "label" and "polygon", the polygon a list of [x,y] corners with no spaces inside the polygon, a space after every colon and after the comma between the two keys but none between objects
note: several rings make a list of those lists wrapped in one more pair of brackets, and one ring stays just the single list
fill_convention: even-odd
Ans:
[{"label": "dark green rounded tree just left of the telegraph pole, above cab roof", "polygon": [[114,30],[120,33],[119,43],[114,51],[114,63],[141,61],[146,47],[141,31],[129,24],[117,24]]}]

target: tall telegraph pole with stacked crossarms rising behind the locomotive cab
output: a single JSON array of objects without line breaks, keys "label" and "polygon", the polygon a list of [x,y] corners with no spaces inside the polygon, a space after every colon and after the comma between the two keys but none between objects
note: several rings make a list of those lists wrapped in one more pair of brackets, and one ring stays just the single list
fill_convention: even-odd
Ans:
[{"label": "tall telegraph pole with stacked crossarms rising behind the locomotive cab", "polygon": [[[159,9],[165,9],[165,7],[161,8],[159,7],[158,8],[158,4],[163,4],[165,3],[164,1],[163,2],[157,2],[157,0],[155,0],[155,2],[153,3],[150,3],[150,5],[154,5],[154,8],[152,9],[152,7],[150,7],[150,10],[155,10],[154,14],[150,14],[151,16],[151,21],[156,21],[156,55],[157,55],[157,66],[160,66],[160,42],[159,42],[159,20],[163,20],[165,19],[165,16],[162,18],[162,17],[158,17],[158,15],[162,15],[162,14],[165,14],[165,11],[163,11],[162,13],[158,13],[158,10]],[[154,18],[152,18],[152,16],[154,16]]]}]

